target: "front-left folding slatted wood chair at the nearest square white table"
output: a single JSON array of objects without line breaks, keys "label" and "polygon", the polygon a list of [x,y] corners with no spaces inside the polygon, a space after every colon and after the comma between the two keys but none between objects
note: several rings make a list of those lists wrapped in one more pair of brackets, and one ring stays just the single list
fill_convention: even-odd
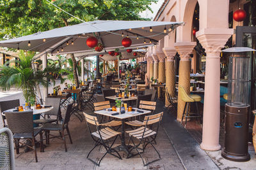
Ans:
[{"label": "front-left folding slatted wood chair at the nearest square white table", "polygon": [[[90,150],[90,152],[88,153],[87,159],[91,160],[93,162],[93,164],[95,164],[97,166],[100,166],[101,160],[107,155],[107,153],[117,157],[118,159],[122,159],[122,157],[119,155],[119,153],[114,148],[112,148],[113,144],[116,141],[116,138],[118,136],[120,137],[121,132],[113,131],[109,127],[100,129],[100,124],[99,124],[97,117],[93,117],[86,113],[84,113],[84,117],[86,120],[88,130],[90,132],[90,135],[92,136],[93,141],[95,141],[95,146],[93,146],[92,150]],[[92,132],[89,124],[96,125],[97,131]],[[110,139],[112,139],[112,138],[114,138],[113,143],[111,143],[111,145],[109,145],[108,141],[110,141]],[[89,158],[89,155],[96,148],[96,146],[100,146],[100,145],[104,146],[104,148],[106,149],[106,153],[104,153],[102,158],[99,160],[99,163],[97,164],[97,162],[95,162],[94,160]],[[113,152],[117,153],[117,155],[115,155]]]}]

